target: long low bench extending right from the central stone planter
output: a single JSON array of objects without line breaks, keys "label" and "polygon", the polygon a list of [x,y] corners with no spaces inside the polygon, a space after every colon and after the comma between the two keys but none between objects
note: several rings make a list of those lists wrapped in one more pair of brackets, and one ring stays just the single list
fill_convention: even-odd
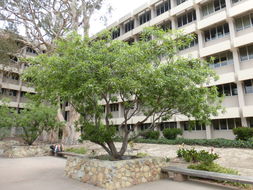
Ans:
[{"label": "long low bench extending right from the central stone planter", "polygon": [[217,173],[217,172],[208,172],[202,170],[193,170],[187,168],[180,168],[176,166],[168,166],[164,167],[161,170],[163,173],[173,173],[173,179],[175,181],[185,181],[188,177],[198,177],[204,179],[212,179],[218,181],[230,181],[230,182],[237,182],[237,183],[244,183],[244,184],[253,184],[253,177],[247,176],[239,176],[239,175],[232,175],[232,174],[224,174],[224,173]]}]

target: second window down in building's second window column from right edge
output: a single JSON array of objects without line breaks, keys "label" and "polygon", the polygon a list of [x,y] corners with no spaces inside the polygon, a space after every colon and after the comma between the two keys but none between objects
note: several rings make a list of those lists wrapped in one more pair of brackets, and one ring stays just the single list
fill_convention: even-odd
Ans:
[{"label": "second window down in building's second window column from right edge", "polygon": [[229,34],[228,24],[225,23],[225,24],[217,26],[215,28],[211,28],[209,30],[206,30],[204,32],[204,34],[205,34],[205,42],[208,42],[210,40],[215,40],[217,38],[222,38],[225,35]]}]

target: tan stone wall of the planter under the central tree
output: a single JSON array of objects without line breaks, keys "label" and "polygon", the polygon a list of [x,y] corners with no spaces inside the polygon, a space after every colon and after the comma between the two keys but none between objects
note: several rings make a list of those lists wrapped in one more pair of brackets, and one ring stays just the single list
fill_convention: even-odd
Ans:
[{"label": "tan stone wall of the planter under the central tree", "polygon": [[139,158],[123,161],[102,161],[88,157],[68,157],[65,173],[68,177],[108,190],[161,179],[163,158]]}]

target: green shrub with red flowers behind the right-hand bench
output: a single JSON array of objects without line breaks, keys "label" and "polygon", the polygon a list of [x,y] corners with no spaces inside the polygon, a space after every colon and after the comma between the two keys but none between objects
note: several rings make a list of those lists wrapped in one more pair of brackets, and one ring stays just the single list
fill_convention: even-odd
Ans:
[{"label": "green shrub with red flowers behind the right-hand bench", "polygon": [[194,148],[180,148],[177,150],[177,156],[182,157],[186,162],[201,162],[205,164],[212,163],[219,158],[219,155],[216,153],[209,153],[205,150],[197,151]]}]

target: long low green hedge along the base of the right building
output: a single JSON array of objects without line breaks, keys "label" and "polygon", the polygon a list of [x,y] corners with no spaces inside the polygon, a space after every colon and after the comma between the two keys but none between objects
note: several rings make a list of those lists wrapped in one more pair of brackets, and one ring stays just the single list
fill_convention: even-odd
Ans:
[{"label": "long low green hedge along the base of the right building", "polygon": [[191,146],[209,146],[217,148],[250,148],[253,149],[253,141],[242,140],[228,140],[228,139],[184,139],[177,138],[175,140],[169,140],[160,138],[158,140],[153,139],[135,139],[135,143],[149,143],[149,144],[169,144],[169,145],[191,145]]}]

